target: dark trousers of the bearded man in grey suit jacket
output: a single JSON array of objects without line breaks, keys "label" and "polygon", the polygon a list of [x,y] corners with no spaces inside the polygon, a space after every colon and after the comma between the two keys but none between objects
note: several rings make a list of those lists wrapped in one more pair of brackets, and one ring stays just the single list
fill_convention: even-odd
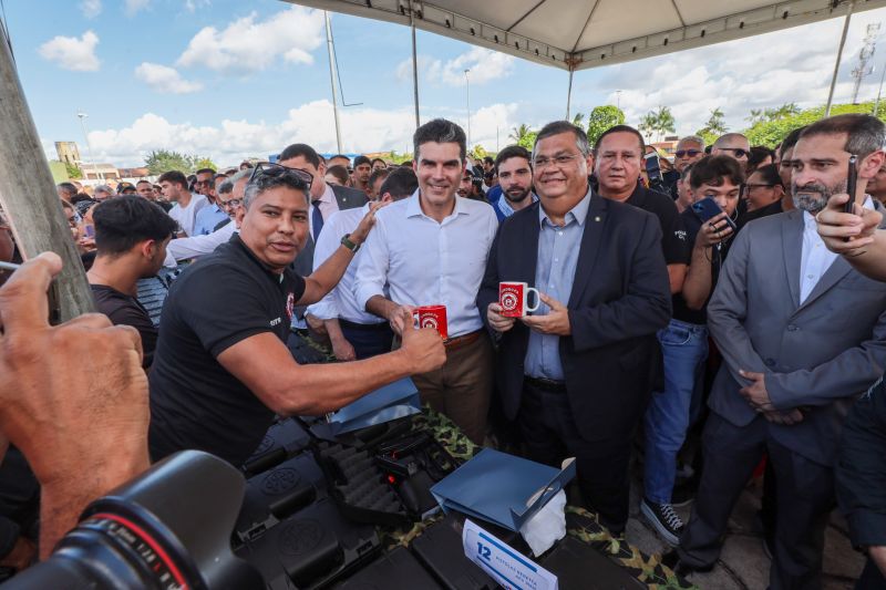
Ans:
[{"label": "dark trousers of the bearded man in grey suit jacket", "polygon": [[770,588],[820,589],[824,530],[835,505],[833,468],[773,441],[762,417],[738,427],[712,412],[702,444],[704,470],[680,538],[680,559],[713,566],[732,508],[765,452],[779,480]]}]

